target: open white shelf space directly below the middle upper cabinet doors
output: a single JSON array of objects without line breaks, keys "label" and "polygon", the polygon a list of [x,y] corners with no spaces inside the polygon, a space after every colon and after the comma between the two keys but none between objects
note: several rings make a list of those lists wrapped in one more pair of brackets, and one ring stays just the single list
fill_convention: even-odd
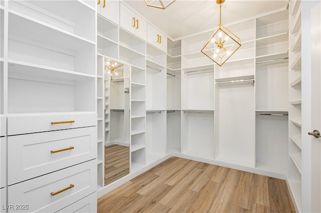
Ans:
[{"label": "open white shelf space directly below the middle upper cabinet doors", "polygon": [[141,55],[146,54],[145,41],[119,28],[119,44]]}]

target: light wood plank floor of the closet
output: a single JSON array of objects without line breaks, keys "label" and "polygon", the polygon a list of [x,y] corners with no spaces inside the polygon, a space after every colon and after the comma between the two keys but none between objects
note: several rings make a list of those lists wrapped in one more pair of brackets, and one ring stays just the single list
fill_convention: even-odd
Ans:
[{"label": "light wood plank floor of the closet", "polygon": [[285,180],[171,157],[98,199],[98,212],[295,212]]}]

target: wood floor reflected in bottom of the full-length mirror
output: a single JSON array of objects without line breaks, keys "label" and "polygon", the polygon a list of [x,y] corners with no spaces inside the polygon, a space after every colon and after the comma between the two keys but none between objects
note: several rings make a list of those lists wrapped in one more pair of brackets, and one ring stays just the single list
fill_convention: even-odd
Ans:
[{"label": "wood floor reflected in bottom of the full-length mirror", "polygon": [[105,146],[105,185],[129,173],[129,147]]}]

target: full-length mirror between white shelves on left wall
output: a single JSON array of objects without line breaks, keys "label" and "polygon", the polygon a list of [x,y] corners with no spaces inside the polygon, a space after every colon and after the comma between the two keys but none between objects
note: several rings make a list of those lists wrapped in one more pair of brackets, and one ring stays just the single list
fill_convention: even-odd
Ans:
[{"label": "full-length mirror between white shelves on left wall", "polygon": [[129,173],[129,70],[105,58],[105,185]]}]

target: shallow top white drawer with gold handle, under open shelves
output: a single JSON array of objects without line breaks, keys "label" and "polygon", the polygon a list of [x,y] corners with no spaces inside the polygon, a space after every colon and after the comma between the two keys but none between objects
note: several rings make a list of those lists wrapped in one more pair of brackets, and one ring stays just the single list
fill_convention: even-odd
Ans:
[{"label": "shallow top white drawer with gold handle, under open shelves", "polygon": [[97,125],[97,113],[95,112],[17,114],[8,116],[8,135],[95,125]]}]

